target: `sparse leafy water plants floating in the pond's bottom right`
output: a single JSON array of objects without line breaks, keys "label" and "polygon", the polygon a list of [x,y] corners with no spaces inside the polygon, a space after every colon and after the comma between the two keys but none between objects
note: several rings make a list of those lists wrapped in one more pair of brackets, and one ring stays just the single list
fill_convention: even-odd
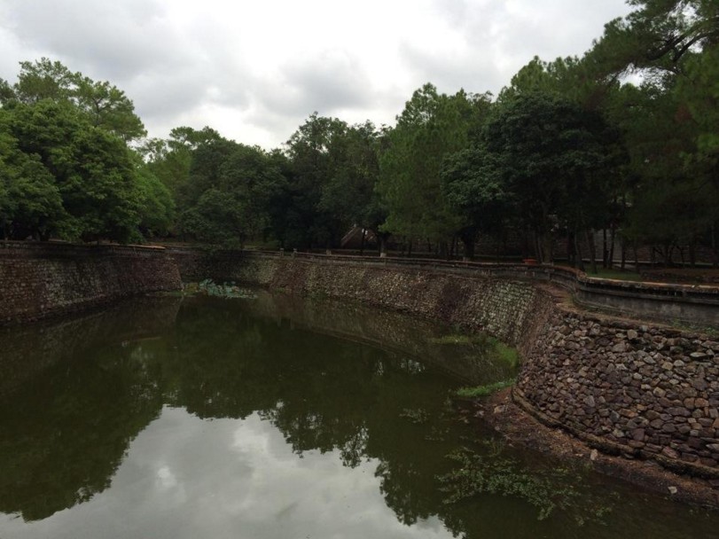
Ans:
[{"label": "sparse leafy water plants floating in the pond's bottom right", "polygon": [[590,521],[601,523],[602,517],[612,511],[606,500],[597,503],[589,488],[586,492],[581,490],[584,481],[578,473],[563,467],[530,472],[512,458],[504,457],[501,446],[490,449],[489,455],[462,448],[447,456],[457,465],[437,478],[442,483],[440,490],[447,495],[445,504],[481,494],[516,496],[537,509],[539,520],[561,510],[571,513],[579,525]]}]

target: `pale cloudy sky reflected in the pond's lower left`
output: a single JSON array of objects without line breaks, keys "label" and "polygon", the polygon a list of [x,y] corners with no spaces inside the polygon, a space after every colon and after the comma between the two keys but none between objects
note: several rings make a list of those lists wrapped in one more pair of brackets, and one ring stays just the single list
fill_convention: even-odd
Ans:
[{"label": "pale cloudy sky reflected in the pond's lower left", "polygon": [[379,493],[377,465],[345,468],[337,451],[300,458],[256,415],[207,421],[166,408],[111,488],[38,522],[0,515],[0,537],[451,537],[438,519],[402,525]]}]

